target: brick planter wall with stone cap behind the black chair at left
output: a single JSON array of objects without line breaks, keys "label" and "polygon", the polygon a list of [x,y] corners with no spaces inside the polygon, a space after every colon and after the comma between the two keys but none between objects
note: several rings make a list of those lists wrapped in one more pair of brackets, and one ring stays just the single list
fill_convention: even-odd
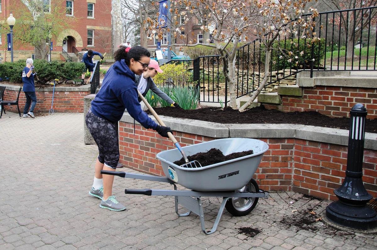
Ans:
[{"label": "brick planter wall with stone cap behind the black chair at left", "polygon": [[[0,84],[6,86],[3,100],[16,100],[19,86]],[[35,106],[34,112],[48,113],[51,108],[53,88],[36,88],[35,94],[38,103]],[[79,87],[55,87],[54,93],[54,112],[61,113],[81,113],[84,112],[84,97],[90,94],[90,85],[83,85]],[[21,90],[20,98],[18,99],[18,106],[22,113],[25,107],[26,97]],[[16,112],[17,106],[7,106],[6,110]]]}]

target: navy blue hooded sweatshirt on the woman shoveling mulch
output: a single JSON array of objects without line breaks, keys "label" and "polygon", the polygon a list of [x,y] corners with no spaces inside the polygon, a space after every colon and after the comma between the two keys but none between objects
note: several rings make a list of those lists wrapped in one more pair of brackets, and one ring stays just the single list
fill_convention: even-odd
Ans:
[{"label": "navy blue hooded sweatshirt on the woman shoveling mulch", "polygon": [[107,71],[100,91],[92,100],[91,110],[98,117],[118,122],[126,108],[130,116],[144,128],[156,129],[157,123],[150,119],[138,102],[135,74],[122,59]]}]

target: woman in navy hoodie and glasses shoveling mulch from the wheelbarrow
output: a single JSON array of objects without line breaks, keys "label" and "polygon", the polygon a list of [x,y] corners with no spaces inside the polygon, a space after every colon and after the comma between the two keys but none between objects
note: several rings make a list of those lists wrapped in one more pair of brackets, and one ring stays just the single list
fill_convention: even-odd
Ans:
[{"label": "woman in navy hoodie and glasses shoveling mulch from the wheelbarrow", "polygon": [[115,63],[109,68],[100,91],[92,100],[85,122],[97,143],[99,156],[95,164],[95,177],[89,194],[101,199],[101,208],[123,211],[124,205],[112,195],[113,175],[102,176],[101,170],[115,171],[119,161],[118,121],[124,110],[144,128],[152,128],[161,136],[169,137],[169,127],[155,123],[141,109],[135,84],[135,74],[147,70],[150,53],[141,46],[120,46],[115,52]]}]

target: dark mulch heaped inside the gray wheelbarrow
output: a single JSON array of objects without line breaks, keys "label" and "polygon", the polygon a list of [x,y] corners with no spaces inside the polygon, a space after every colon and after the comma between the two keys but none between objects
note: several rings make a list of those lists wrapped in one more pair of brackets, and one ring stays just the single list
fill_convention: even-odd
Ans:
[{"label": "dark mulch heaped inside the gray wheelbarrow", "polygon": [[[249,154],[253,154],[253,150],[231,153],[227,156],[224,156],[224,154],[222,154],[220,150],[216,148],[211,148],[208,152],[197,153],[193,154],[192,156],[187,156],[187,159],[189,159],[189,161],[197,160],[200,163],[200,165],[204,167],[219,162],[225,162],[226,160],[233,160],[242,156],[247,156]],[[179,166],[185,164],[185,160],[182,157],[180,160],[177,160],[173,163]]]}]

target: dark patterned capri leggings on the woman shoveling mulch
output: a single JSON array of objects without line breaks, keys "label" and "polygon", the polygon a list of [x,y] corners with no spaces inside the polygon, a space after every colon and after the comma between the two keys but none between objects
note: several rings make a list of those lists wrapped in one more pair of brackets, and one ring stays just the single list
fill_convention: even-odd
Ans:
[{"label": "dark patterned capri leggings on the woman shoveling mulch", "polygon": [[98,160],[115,169],[119,161],[118,122],[100,118],[89,110],[85,123],[97,143]]}]

